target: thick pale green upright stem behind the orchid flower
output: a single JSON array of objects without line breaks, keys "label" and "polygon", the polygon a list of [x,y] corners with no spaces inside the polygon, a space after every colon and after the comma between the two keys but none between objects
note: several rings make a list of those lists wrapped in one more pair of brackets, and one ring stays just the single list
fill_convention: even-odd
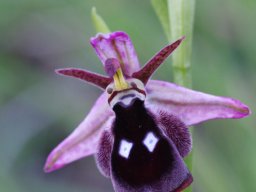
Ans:
[{"label": "thick pale green upright stem behind the orchid flower", "polygon": [[[195,0],[167,0],[167,5],[170,23],[169,41],[173,42],[183,35],[186,36],[186,40],[172,57],[174,82],[181,86],[191,88],[192,78],[190,68]],[[188,169],[192,171],[193,152],[185,158],[185,162]],[[192,187],[190,186],[184,192],[192,192]]]}]

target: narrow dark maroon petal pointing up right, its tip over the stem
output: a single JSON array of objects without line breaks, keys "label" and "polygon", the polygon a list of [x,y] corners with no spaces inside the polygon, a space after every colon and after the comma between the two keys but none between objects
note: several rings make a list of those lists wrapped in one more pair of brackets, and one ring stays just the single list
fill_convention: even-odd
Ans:
[{"label": "narrow dark maroon petal pointing up right, its tip over the stem", "polygon": [[167,57],[180,45],[180,43],[185,39],[185,37],[180,38],[171,45],[164,47],[160,50],[153,58],[151,58],[142,69],[135,72],[132,76],[134,78],[140,79],[144,84],[146,84],[149,78],[157,70],[157,68],[167,59]]}]

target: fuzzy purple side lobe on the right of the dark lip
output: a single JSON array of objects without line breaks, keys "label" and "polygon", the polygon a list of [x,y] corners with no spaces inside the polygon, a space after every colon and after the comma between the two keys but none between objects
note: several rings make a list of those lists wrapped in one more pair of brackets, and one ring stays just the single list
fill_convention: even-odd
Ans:
[{"label": "fuzzy purple side lobe on the right of the dark lip", "polygon": [[160,128],[173,141],[181,157],[187,156],[192,149],[192,138],[187,126],[166,111],[159,111],[155,116]]}]

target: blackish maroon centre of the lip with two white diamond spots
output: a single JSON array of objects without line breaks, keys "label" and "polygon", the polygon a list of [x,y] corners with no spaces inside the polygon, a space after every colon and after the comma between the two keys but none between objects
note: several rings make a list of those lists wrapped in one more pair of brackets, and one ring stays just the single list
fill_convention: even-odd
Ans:
[{"label": "blackish maroon centre of the lip with two white diamond spots", "polygon": [[134,99],[129,106],[117,103],[113,110],[116,114],[111,155],[114,179],[119,185],[132,187],[134,191],[168,179],[177,166],[177,154],[153,115],[144,107],[144,102]]}]

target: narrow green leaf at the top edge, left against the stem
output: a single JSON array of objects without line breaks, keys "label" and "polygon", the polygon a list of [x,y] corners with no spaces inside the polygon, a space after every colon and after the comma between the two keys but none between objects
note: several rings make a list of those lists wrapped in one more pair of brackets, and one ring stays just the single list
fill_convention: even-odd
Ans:
[{"label": "narrow green leaf at the top edge, left against the stem", "polygon": [[167,39],[170,41],[171,34],[167,0],[151,0],[151,4],[160,20]]}]

